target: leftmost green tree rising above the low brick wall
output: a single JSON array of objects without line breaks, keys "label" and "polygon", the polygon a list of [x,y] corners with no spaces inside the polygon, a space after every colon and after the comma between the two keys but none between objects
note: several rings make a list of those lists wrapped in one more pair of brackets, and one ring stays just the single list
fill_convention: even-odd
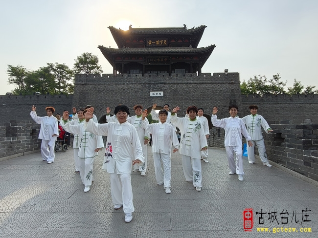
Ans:
[{"label": "leftmost green tree rising above the low brick wall", "polygon": [[8,64],[7,74],[9,83],[16,84],[17,87],[12,91],[14,94],[27,94],[31,88],[32,79],[30,72],[22,65],[13,66]]}]

